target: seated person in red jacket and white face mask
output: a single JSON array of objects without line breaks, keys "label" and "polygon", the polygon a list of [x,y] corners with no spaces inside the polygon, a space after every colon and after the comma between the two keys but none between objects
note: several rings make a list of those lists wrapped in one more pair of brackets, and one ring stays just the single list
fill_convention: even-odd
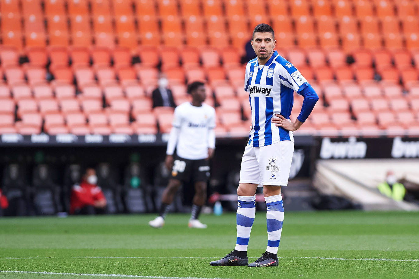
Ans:
[{"label": "seated person in red jacket and white face mask", "polygon": [[97,181],[96,171],[92,168],[87,169],[81,183],[72,188],[70,214],[104,213],[106,199],[101,187],[96,184]]}]

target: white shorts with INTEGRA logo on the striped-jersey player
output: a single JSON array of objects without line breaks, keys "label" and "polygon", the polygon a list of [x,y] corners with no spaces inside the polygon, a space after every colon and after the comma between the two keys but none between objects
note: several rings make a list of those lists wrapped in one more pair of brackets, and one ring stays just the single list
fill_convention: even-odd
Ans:
[{"label": "white shorts with INTEGRA logo on the striped-jersey player", "polygon": [[287,186],[293,153],[292,141],[261,147],[248,144],[241,159],[239,183]]}]

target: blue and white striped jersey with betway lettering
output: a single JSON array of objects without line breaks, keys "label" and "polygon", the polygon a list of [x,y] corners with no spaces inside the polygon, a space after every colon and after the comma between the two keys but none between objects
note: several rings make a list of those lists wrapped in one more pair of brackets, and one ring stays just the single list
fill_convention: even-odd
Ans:
[{"label": "blue and white striped jersey with betway lettering", "polygon": [[301,73],[274,51],[265,65],[259,65],[257,58],[247,63],[244,83],[252,109],[253,129],[249,142],[253,146],[266,146],[294,141],[291,131],[276,127],[271,119],[275,113],[290,118],[294,90],[300,93],[310,85]]}]

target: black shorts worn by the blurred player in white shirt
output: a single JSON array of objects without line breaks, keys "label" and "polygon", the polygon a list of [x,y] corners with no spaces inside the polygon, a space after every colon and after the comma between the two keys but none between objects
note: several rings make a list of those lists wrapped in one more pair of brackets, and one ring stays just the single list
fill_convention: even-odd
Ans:
[{"label": "black shorts worn by the blurred player in white shirt", "polygon": [[189,160],[175,156],[172,168],[172,178],[180,181],[207,182],[210,176],[209,161]]}]

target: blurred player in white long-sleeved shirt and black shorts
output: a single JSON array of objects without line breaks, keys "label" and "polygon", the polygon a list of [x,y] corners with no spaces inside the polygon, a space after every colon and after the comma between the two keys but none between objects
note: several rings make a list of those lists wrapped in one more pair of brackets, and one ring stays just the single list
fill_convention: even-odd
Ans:
[{"label": "blurred player in white long-sleeved shirt and black shorts", "polygon": [[[195,196],[189,228],[207,228],[199,220],[201,207],[207,200],[209,161],[215,150],[215,109],[204,103],[205,87],[202,82],[188,86],[192,102],[185,102],[175,109],[173,128],[169,135],[166,151],[166,167],[172,170],[171,179],[163,192],[159,216],[148,224],[161,228],[168,207],[182,182],[193,180]],[[176,156],[173,153],[176,148]]]}]

